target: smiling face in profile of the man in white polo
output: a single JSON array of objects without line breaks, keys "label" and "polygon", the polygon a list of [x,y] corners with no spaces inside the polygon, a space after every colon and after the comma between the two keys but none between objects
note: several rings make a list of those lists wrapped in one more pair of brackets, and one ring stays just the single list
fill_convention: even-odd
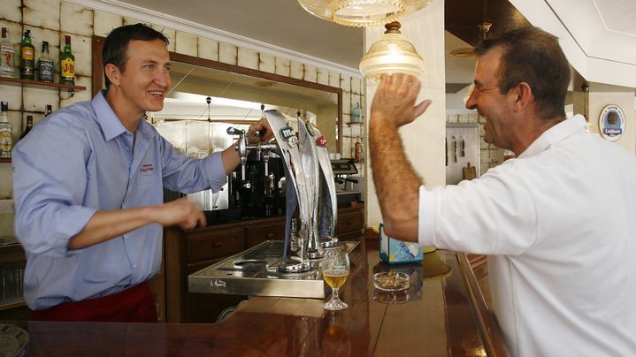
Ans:
[{"label": "smiling face in profile of the man in white polo", "polygon": [[466,108],[477,109],[486,118],[484,141],[498,148],[511,148],[510,125],[512,113],[510,100],[501,94],[499,87],[500,65],[503,49],[490,49],[478,57],[475,68],[475,88],[466,102]]}]

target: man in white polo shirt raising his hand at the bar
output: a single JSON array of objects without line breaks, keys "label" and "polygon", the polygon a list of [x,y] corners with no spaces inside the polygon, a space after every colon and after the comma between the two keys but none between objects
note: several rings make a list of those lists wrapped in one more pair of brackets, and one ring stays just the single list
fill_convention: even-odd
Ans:
[{"label": "man in white polo shirt raising his hand at the bar", "polygon": [[[466,103],[484,140],[516,159],[425,188],[398,128],[421,115],[417,79],[385,76],[373,99],[372,175],[388,235],[489,254],[493,308],[515,356],[636,353],[636,157],[565,118],[570,67],[555,36],[526,27],[475,50]],[[387,140],[387,138],[393,138]]]}]

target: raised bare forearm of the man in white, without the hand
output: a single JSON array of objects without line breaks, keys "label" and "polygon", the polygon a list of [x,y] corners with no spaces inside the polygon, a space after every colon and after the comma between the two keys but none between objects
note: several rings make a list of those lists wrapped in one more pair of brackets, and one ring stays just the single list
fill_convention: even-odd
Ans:
[{"label": "raised bare forearm of the man in white, without the hand", "polygon": [[422,181],[407,159],[395,126],[374,120],[370,125],[373,182],[385,232],[397,239],[418,241],[418,198]]}]

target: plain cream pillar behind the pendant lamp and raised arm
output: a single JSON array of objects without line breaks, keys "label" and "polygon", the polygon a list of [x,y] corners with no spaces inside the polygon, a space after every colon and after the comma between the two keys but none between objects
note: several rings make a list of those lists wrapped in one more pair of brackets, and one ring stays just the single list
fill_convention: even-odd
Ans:
[{"label": "plain cream pillar behind the pendant lamp and raised arm", "polygon": [[[446,131],[446,95],[444,77],[444,2],[433,1],[424,10],[400,20],[402,34],[415,45],[425,61],[425,73],[419,78],[422,90],[418,100],[432,99],[433,104],[415,122],[400,130],[404,148],[416,171],[424,178],[427,187],[444,185],[444,133]],[[364,47],[369,49],[384,33],[382,27],[367,28],[364,31]],[[366,106],[371,108],[377,83],[366,82]],[[367,110],[368,114],[368,110]],[[367,115],[368,117],[368,115]],[[391,138],[387,138],[390,140]],[[368,150],[367,150],[368,152]],[[367,168],[371,160],[366,161]],[[381,220],[379,203],[372,171],[369,171],[366,190],[366,225],[377,226]]]}]

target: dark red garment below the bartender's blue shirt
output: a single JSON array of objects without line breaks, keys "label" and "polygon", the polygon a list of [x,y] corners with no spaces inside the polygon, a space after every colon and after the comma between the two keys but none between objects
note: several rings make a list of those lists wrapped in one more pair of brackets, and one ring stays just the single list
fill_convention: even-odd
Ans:
[{"label": "dark red garment below the bartender's blue shirt", "polygon": [[65,302],[34,311],[30,321],[157,323],[157,307],[148,283],[95,299]]}]

